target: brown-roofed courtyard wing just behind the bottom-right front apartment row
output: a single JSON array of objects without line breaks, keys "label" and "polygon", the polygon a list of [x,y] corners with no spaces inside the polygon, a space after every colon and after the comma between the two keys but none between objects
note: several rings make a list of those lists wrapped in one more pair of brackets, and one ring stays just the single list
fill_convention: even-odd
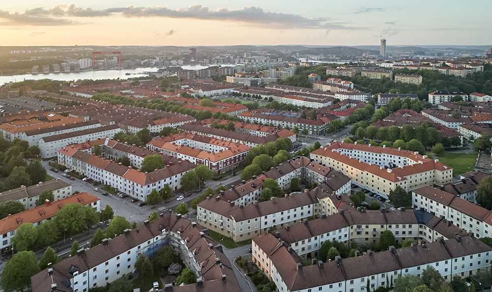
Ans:
[{"label": "brown-roofed courtyard wing just behind the bottom-right front apartment row", "polygon": [[397,243],[407,239],[427,243],[439,240],[441,236],[447,240],[454,238],[455,233],[461,237],[468,236],[460,228],[448,223],[450,222],[423,210],[349,208],[311,221],[304,220],[300,224],[286,225],[271,233],[305,260],[317,258],[318,250],[326,240],[343,242],[346,245],[352,241],[368,244],[379,242],[382,232],[386,230],[395,235]]}]

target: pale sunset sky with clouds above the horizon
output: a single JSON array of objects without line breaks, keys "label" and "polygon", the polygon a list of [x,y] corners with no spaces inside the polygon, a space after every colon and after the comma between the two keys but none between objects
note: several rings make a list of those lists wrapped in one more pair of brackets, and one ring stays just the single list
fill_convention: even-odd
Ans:
[{"label": "pale sunset sky with clouds above the horizon", "polygon": [[489,0],[4,0],[1,46],[490,45]]}]

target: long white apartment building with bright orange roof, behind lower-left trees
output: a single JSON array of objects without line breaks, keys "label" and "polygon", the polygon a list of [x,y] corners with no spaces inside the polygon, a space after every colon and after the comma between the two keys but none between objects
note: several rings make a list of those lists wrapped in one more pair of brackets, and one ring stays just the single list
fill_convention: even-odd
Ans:
[{"label": "long white apartment building with bright orange roof, behind lower-left trees", "polygon": [[[55,195],[56,198],[56,195]],[[62,206],[66,204],[82,204],[83,206],[90,205],[97,212],[100,211],[99,198],[92,196],[89,193],[79,193],[73,196],[66,197],[55,202],[46,202],[45,204],[30,208],[26,211],[8,215],[7,217],[0,219],[0,234],[1,239],[1,252],[10,252],[10,240],[15,235],[15,231],[23,223],[32,223],[34,226],[41,224],[46,220],[51,220],[60,211]]]}]

